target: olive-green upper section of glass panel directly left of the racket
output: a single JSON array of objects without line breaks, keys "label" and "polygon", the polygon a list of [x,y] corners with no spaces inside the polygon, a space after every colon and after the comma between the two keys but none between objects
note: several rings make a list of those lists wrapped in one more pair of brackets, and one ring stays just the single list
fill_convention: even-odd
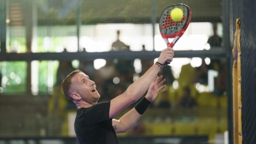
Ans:
[{"label": "olive-green upper section of glass panel directly left of the racket", "polygon": [[83,24],[151,22],[151,1],[147,0],[82,0],[80,9]]}]

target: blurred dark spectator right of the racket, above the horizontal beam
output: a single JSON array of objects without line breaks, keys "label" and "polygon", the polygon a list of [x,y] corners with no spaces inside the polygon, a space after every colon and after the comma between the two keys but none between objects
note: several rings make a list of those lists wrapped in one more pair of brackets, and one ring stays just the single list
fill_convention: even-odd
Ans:
[{"label": "blurred dark spectator right of the racket, above the horizontal beam", "polygon": [[213,35],[209,37],[207,42],[210,44],[211,47],[221,47],[222,39],[217,34],[217,24],[213,23],[212,28],[213,28]]}]

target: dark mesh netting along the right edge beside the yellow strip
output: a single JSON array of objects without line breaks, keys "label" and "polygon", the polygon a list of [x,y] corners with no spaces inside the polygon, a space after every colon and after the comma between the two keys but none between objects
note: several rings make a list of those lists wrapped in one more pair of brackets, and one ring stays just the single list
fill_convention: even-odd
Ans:
[{"label": "dark mesh netting along the right edge beside the yellow strip", "polygon": [[241,18],[243,144],[256,144],[256,1],[230,0],[230,43],[234,45],[236,18]]}]

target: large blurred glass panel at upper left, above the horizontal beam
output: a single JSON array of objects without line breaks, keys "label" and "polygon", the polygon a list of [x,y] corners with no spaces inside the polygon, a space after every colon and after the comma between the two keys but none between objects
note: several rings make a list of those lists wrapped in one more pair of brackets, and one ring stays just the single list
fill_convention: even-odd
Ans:
[{"label": "large blurred glass panel at upper left, above the horizontal beam", "polygon": [[[62,5],[61,5],[62,4]],[[77,1],[8,2],[8,53],[77,51]],[[69,20],[68,20],[69,19]],[[72,19],[72,25],[69,21]]]}]

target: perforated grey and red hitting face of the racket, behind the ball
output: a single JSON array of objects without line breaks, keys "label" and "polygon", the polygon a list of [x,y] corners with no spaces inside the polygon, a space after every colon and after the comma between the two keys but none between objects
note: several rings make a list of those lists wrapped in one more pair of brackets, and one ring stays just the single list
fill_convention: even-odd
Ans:
[{"label": "perforated grey and red hitting face of the racket, behind the ball", "polygon": [[[173,21],[170,12],[174,8],[180,8],[183,11],[183,18],[180,21]],[[168,38],[175,37],[175,34],[184,29],[189,22],[190,9],[185,4],[175,4],[164,9],[159,20],[159,29]]]}]

